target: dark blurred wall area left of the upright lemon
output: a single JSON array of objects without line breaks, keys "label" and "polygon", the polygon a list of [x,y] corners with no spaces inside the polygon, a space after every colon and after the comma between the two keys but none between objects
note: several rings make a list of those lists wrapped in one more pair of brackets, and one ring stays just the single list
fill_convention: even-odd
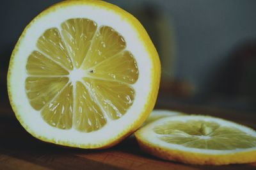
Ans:
[{"label": "dark blurred wall area left of the upright lemon", "polygon": [[0,105],[8,104],[6,74],[12,50],[23,29],[38,13],[57,0],[10,0],[0,5]]}]

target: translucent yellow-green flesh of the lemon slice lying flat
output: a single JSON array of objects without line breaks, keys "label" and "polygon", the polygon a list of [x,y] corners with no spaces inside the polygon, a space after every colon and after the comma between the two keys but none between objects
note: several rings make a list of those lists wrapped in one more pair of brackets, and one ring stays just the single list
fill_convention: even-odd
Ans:
[{"label": "translucent yellow-green flesh of the lemon slice lying flat", "polygon": [[154,132],[166,143],[188,148],[236,150],[256,146],[256,137],[212,121],[167,121],[155,127]]}]

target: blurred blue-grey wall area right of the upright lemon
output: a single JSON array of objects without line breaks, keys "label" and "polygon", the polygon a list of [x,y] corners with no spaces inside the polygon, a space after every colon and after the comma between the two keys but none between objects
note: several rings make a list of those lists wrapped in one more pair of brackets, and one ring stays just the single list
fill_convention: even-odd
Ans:
[{"label": "blurred blue-grey wall area right of the upright lemon", "polygon": [[130,12],[150,3],[159,12],[170,15],[177,41],[174,77],[194,84],[197,93],[210,90],[214,74],[237,45],[256,39],[256,1],[253,0],[109,2]]}]

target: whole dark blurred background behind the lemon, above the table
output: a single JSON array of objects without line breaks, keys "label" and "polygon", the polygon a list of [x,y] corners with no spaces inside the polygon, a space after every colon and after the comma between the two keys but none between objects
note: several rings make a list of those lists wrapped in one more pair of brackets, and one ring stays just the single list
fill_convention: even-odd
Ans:
[{"label": "whole dark blurred background behind the lemon, above the table", "polygon": [[[11,113],[6,73],[15,43],[30,20],[57,2],[1,3],[1,112]],[[256,1],[108,2],[137,17],[156,45],[162,63],[157,108],[202,107],[255,115]]]}]

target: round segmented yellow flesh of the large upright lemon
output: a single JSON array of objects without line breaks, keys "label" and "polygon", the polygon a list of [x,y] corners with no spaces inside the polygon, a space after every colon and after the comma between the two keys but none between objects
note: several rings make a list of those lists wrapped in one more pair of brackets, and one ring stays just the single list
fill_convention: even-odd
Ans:
[{"label": "round segmented yellow flesh of the large upright lemon", "polygon": [[134,102],[138,68],[124,38],[88,19],[47,29],[28,57],[26,94],[52,127],[93,132]]}]

